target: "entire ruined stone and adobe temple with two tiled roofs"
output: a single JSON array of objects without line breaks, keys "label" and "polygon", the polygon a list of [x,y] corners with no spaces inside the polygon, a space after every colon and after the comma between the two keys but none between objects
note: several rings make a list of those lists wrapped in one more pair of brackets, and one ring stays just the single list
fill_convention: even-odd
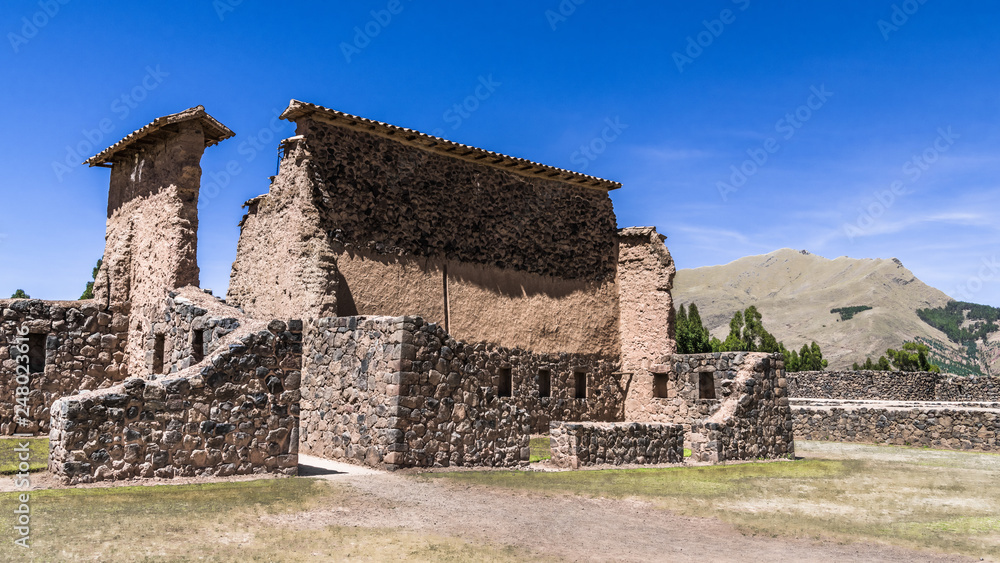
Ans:
[{"label": "entire ruined stone and adobe temple with two tiled roofs", "polygon": [[570,467],[792,454],[780,356],[673,354],[674,263],[617,228],[620,184],[298,101],[282,118],[225,300],[197,287],[197,200],[233,133],[199,106],[87,161],[111,168],[95,299],[0,301],[36,357],[0,431],[48,432],[67,482],[292,474],[299,452],[513,467],[550,432]]}]

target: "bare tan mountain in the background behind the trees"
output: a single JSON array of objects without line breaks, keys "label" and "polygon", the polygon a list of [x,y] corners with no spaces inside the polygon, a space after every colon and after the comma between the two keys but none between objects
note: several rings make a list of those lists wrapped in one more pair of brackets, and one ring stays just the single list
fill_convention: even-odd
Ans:
[{"label": "bare tan mountain in the background behind the trees", "polygon": [[[943,307],[951,298],[917,279],[895,258],[829,260],[784,248],[723,266],[679,270],[673,296],[678,307],[697,303],[705,326],[722,340],[733,313],[755,305],[764,327],[789,349],[815,340],[830,369],[850,368],[868,356],[877,360],[887,348],[898,349],[914,339],[931,345],[944,371],[961,373],[966,369],[963,364],[970,363],[965,347],[949,341],[916,313]],[[871,309],[849,320],[830,312],[860,306]],[[991,339],[1000,340],[1000,333]],[[987,356],[998,355],[998,350],[980,347]],[[993,362],[985,362],[989,363]],[[989,369],[979,367],[983,373]]]}]

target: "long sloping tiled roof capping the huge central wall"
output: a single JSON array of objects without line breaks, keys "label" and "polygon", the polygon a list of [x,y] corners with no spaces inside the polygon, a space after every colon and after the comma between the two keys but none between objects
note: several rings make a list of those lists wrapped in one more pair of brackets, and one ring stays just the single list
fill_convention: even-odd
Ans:
[{"label": "long sloping tiled roof capping the huge central wall", "polygon": [[418,146],[447,156],[479,162],[481,164],[509,170],[529,177],[548,178],[551,180],[559,180],[562,182],[578,184],[590,188],[598,188],[606,191],[616,190],[622,187],[620,183],[612,182],[611,180],[597,178],[596,176],[588,176],[587,174],[564,170],[554,166],[547,166],[545,164],[539,164],[523,158],[507,156],[505,154],[485,149],[470,147],[468,145],[455,143],[447,139],[421,133],[420,131],[414,131],[413,129],[406,129],[405,127],[397,127],[395,125],[389,125],[388,123],[382,123],[381,121],[365,119],[364,117],[358,117],[356,115],[351,115],[315,104],[300,102],[298,100],[292,100],[291,103],[289,103],[288,109],[281,114],[281,118],[289,121],[296,121],[300,117],[311,114],[318,114],[334,123],[343,124],[347,127],[364,129],[382,136],[394,138],[403,143]]}]

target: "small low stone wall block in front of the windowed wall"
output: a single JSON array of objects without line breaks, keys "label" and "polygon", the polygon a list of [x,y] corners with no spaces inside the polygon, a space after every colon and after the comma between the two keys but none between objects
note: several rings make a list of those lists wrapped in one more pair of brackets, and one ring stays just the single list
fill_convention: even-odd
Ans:
[{"label": "small low stone wall block in front of the windowed wall", "polygon": [[553,422],[549,436],[557,467],[684,461],[684,427],[679,424]]}]

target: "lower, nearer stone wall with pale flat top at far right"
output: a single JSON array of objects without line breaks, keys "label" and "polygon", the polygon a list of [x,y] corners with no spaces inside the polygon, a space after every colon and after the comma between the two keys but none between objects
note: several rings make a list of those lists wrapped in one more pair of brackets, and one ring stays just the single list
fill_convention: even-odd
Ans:
[{"label": "lower, nearer stone wall with pale flat top at far right", "polygon": [[1000,409],[796,406],[803,440],[1000,451]]}]

